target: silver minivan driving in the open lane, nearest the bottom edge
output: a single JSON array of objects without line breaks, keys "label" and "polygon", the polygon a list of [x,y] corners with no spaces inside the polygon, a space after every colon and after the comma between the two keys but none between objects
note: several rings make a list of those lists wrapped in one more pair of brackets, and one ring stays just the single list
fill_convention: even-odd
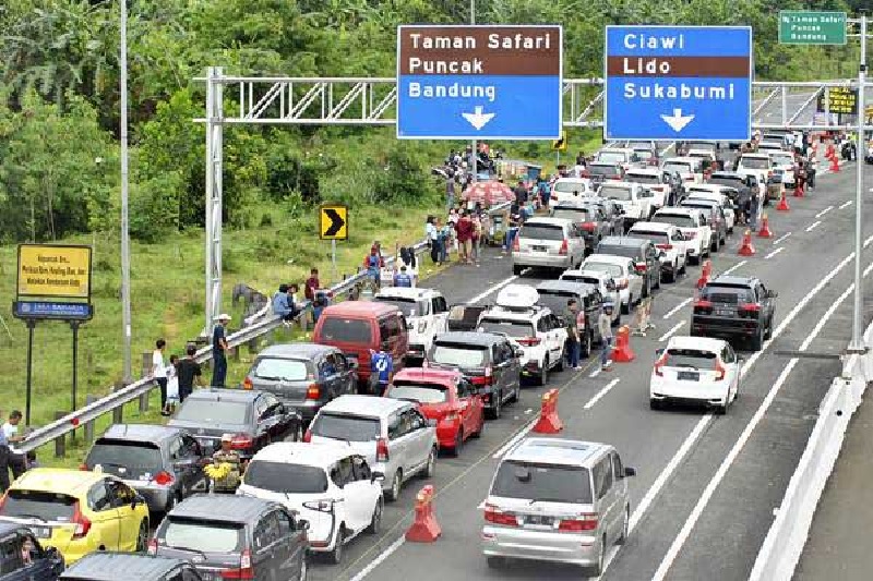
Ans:
[{"label": "silver minivan driving in the open lane, nearest the bottom edge", "polygon": [[627,476],[612,446],[527,438],[501,460],[485,501],[482,552],[504,558],[581,565],[599,577],[608,548],[627,538]]}]

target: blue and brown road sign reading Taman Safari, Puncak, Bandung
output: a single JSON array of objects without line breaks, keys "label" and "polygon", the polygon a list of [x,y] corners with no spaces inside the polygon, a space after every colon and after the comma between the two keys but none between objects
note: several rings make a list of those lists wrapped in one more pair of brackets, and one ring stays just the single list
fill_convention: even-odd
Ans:
[{"label": "blue and brown road sign reading Taman Safari, Puncak, Bandung", "polygon": [[397,138],[561,136],[561,26],[397,27]]}]

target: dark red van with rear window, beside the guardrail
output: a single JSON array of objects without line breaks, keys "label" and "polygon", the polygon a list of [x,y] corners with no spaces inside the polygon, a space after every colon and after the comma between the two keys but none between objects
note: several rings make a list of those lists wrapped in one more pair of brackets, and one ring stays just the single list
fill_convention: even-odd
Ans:
[{"label": "dark red van with rear window, beside the guardrail", "polygon": [[315,324],[313,342],[328,344],[357,366],[358,391],[369,392],[370,350],[391,353],[394,372],[403,368],[409,349],[406,318],[393,304],[346,301],[326,307]]}]

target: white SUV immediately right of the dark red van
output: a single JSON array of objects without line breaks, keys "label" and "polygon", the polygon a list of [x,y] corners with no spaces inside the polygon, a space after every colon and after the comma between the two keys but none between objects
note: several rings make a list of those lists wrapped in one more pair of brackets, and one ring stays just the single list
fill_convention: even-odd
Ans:
[{"label": "white SUV immediately right of the dark red van", "polygon": [[435,289],[388,287],[380,290],[373,300],[393,304],[406,316],[409,325],[407,358],[423,360],[433,339],[449,330],[449,304]]}]

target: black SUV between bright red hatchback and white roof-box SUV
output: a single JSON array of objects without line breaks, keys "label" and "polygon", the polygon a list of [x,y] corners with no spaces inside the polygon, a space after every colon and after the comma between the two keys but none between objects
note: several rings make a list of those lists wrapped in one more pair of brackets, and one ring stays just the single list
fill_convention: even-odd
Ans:
[{"label": "black SUV between bright red hatchback and white roof-box SUV", "polygon": [[457,370],[482,396],[486,412],[497,420],[505,403],[522,394],[523,351],[497,332],[450,331],[434,339],[428,366]]}]

